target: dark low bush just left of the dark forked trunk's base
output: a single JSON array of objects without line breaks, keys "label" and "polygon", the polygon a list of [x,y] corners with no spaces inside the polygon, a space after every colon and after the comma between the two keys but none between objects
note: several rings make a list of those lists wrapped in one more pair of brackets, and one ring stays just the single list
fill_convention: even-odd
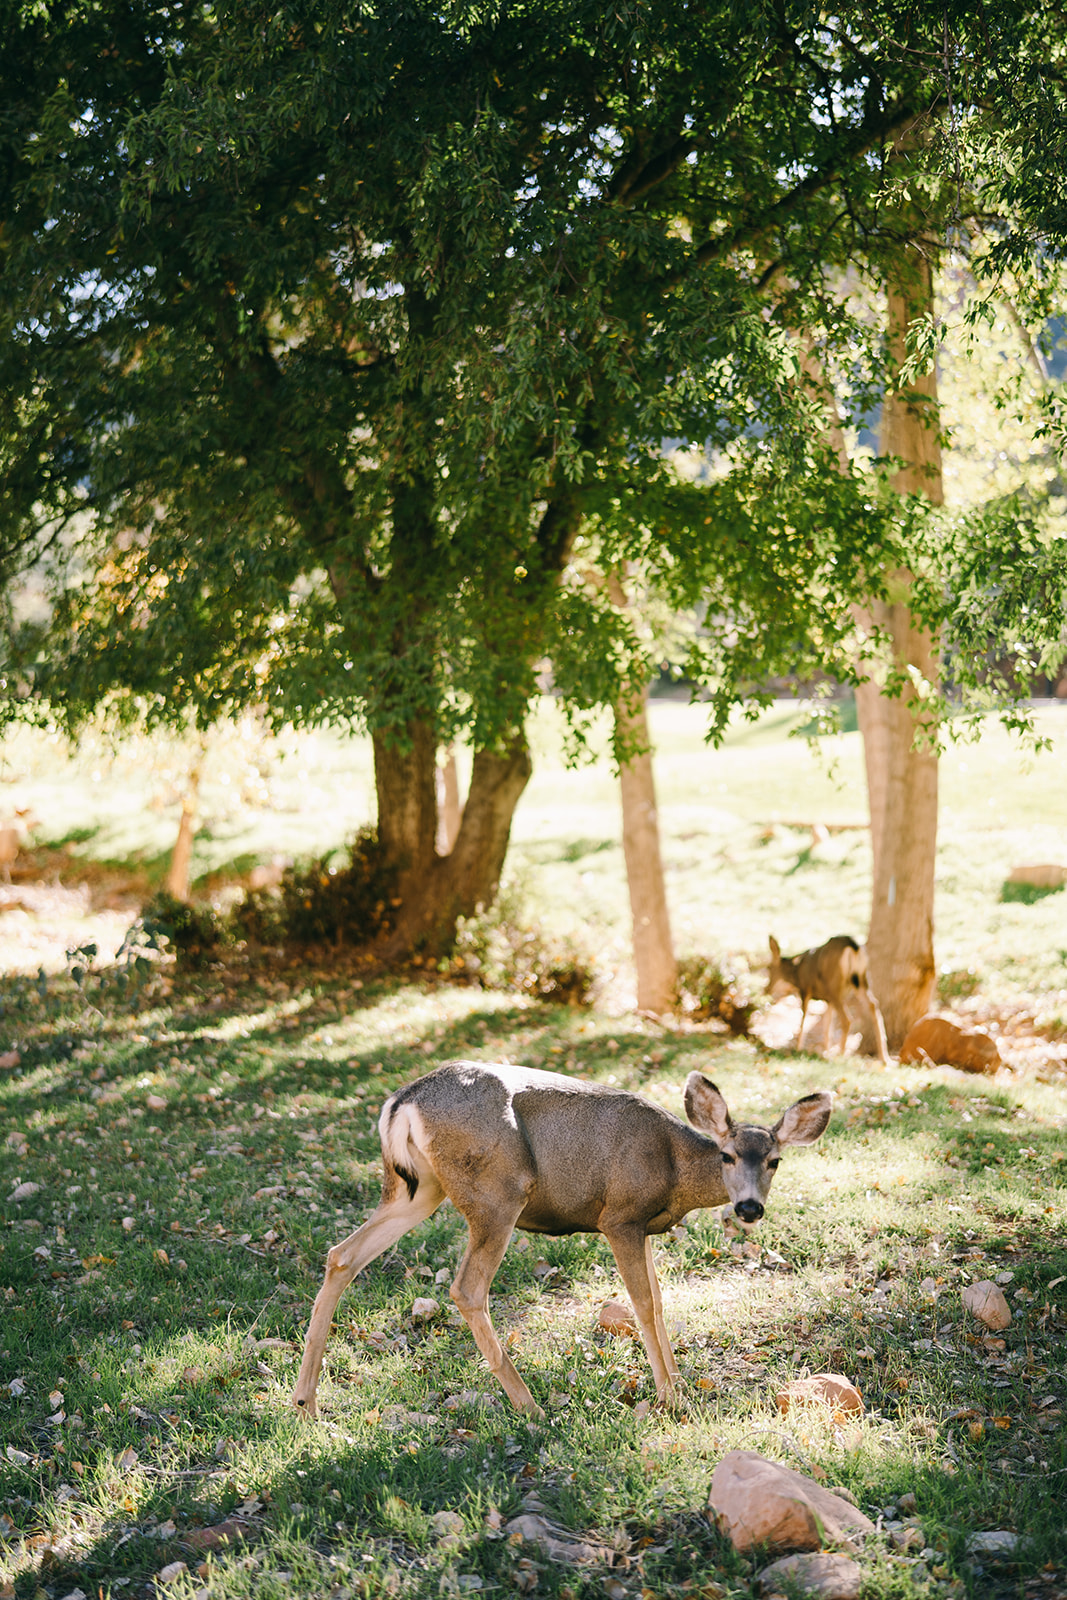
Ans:
[{"label": "dark low bush just left of the dark forked trunk's base", "polygon": [[277,890],[248,890],[230,915],[232,931],[256,944],[363,946],[390,926],[397,906],[397,870],[363,827],[333,866],[328,851],[307,866],[291,866]]}]

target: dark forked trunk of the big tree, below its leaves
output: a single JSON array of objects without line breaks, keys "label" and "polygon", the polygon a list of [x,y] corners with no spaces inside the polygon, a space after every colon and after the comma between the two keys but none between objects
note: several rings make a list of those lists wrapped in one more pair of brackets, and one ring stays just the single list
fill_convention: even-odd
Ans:
[{"label": "dark forked trunk of the big tree, below its leaves", "polygon": [[400,869],[400,907],[381,941],[384,955],[440,955],[453,944],[458,917],[493,904],[530,773],[522,733],[501,750],[477,750],[456,842],[448,856],[438,856],[435,744],[429,726],[419,725],[403,746],[384,733],[374,736],[378,837]]}]

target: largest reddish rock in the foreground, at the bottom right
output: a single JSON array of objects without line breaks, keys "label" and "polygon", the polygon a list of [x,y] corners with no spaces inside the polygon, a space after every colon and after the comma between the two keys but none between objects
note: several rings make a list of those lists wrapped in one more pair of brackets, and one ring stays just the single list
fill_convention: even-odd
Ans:
[{"label": "largest reddish rock in the foreground, at the bottom right", "polygon": [[873,1533],[870,1518],[840,1494],[753,1450],[731,1450],[723,1456],[707,1506],[737,1550],[753,1544],[817,1550],[835,1542],[854,1546]]}]

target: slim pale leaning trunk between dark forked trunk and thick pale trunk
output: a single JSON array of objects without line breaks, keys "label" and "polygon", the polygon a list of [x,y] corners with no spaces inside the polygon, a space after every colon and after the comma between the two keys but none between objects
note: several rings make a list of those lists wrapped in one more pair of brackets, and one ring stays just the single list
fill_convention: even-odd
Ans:
[{"label": "slim pale leaning trunk between dark forked trunk and thick pale trunk", "polygon": [[[629,605],[616,573],[608,574],[608,594],[619,610]],[[667,886],[659,848],[656,781],[648,736],[648,686],[619,696],[614,706],[616,746],[632,750],[619,762],[622,798],[622,854],[633,922],[633,966],[638,1011],[670,1011],[677,998],[678,966],[670,938]]]}]

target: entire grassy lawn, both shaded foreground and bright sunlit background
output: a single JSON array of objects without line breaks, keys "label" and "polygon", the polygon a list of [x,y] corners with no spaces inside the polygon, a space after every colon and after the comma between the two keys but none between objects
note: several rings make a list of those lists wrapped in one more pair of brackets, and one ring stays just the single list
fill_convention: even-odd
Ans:
[{"label": "entire grassy lawn, both shaded foreground and bright sunlit background", "polygon": [[[681,950],[755,968],[771,931],[787,949],[862,931],[864,834],[835,830],[862,819],[857,739],[816,758],[785,739],[792,720],[712,752],[689,707],[653,707]],[[1056,749],[1030,770],[995,733],[942,765],[937,954],[945,994],[1056,1040],[1067,896],[1001,899],[1017,861],[1067,859],[1067,736],[1045,720]],[[875,1520],[910,1514],[913,1534],[864,1555],[872,1600],[1064,1594],[1062,1070],[1024,1053],[997,1080],[881,1070],[635,1018],[614,782],[603,763],[561,765],[547,714],[536,741],[514,867],[531,914],[593,947],[590,1011],[240,952],[157,978],[138,1011],[96,978],[82,995],[56,976],[62,941],[120,938],[173,842],[181,752],[8,747],[5,798],[35,806],[38,861],[62,882],[34,899],[16,874],[0,917],[0,1600],[745,1597],[761,1563],[705,1517],[731,1448],[851,1490]],[[368,814],[358,742],[253,746],[210,757],[202,875],[331,848]],[[787,1152],[755,1243],[707,1214],[656,1245],[681,1413],[649,1410],[640,1344],[598,1330],[621,1291],[603,1242],[522,1235],[494,1317],[549,1419],[510,1411],[448,1301],[466,1232],[450,1206],[349,1290],[322,1421],[290,1410],[325,1253],[378,1200],[381,1102],[450,1054],[560,1066],[675,1110],[699,1067],[760,1120],[837,1090],[821,1144]],[[998,1336],[960,1304],[982,1278],[1009,1298]],[[426,1323],[421,1296],[440,1302]],[[782,1416],[782,1382],[825,1370],[857,1381],[865,1414]],[[523,1510],[592,1558],[517,1539]],[[969,1555],[985,1530],[1024,1542]]]}]

